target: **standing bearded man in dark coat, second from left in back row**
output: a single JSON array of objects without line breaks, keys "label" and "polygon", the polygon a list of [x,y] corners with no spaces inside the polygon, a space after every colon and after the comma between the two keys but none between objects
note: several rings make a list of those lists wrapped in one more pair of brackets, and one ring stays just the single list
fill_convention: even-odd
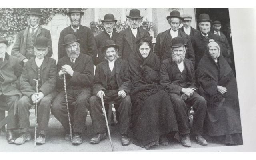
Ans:
[{"label": "standing bearded man in dark coat, second from left in back row", "polygon": [[66,50],[64,47],[64,37],[68,34],[74,34],[76,39],[80,39],[80,52],[92,57],[94,64],[96,64],[97,47],[92,30],[86,26],[81,25],[81,19],[84,12],[81,8],[70,8],[67,13],[71,25],[64,28],[60,32],[60,38],[58,43],[58,59],[66,56]]}]

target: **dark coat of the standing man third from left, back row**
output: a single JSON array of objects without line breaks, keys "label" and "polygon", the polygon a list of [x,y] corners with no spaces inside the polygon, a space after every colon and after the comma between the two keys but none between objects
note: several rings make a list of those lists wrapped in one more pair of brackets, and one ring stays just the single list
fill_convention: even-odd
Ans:
[{"label": "dark coat of the standing man third from left, back row", "polygon": [[103,62],[105,60],[105,54],[101,52],[101,48],[104,45],[104,43],[107,40],[113,40],[115,43],[117,43],[118,36],[119,33],[116,32],[116,29],[114,28],[111,38],[105,30],[95,37],[96,46],[98,48],[98,59],[96,61],[96,64],[100,64],[100,62]]}]

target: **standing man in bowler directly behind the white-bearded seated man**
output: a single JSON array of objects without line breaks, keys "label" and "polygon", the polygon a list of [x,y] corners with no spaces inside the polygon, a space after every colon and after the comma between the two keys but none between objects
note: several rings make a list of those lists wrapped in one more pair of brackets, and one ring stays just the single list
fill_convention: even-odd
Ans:
[{"label": "standing man in bowler directly behind the white-bearded seated man", "polygon": [[172,12],[170,12],[170,16],[167,16],[166,19],[168,20],[171,28],[157,35],[154,53],[158,56],[158,58],[160,58],[161,62],[167,58],[170,58],[170,56],[172,55],[170,49],[172,39],[175,37],[183,37],[186,39],[186,43],[188,44],[186,58],[191,60],[191,62],[194,64],[195,55],[190,41],[190,37],[184,32],[179,31],[179,26],[182,22],[180,12],[177,10],[173,10]]}]

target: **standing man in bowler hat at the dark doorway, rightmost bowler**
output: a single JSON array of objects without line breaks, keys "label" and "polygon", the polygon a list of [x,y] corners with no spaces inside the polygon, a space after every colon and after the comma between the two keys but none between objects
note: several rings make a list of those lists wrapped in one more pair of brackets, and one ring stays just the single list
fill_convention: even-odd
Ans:
[{"label": "standing man in bowler hat at the dark doorway, rightmost bowler", "polygon": [[[224,58],[228,58],[228,49],[226,48],[226,45],[224,44],[224,41],[220,36],[210,32],[212,20],[210,20],[210,16],[208,14],[200,14],[199,18],[197,19],[198,26],[200,29],[200,33],[196,34],[192,37],[191,42],[194,48],[195,57],[196,57],[196,67],[204,55],[204,52],[207,48],[207,44],[209,41],[215,41],[218,42],[220,45],[220,50],[222,51],[222,55]],[[195,67],[195,69],[196,69]]]}]

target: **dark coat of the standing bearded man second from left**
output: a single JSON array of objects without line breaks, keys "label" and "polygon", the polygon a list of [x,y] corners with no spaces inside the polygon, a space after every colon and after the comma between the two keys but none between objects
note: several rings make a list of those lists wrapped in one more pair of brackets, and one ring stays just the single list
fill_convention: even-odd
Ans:
[{"label": "dark coat of the standing bearded man second from left", "polygon": [[[58,43],[59,60],[67,55],[66,50],[62,44],[64,44],[64,37],[68,34],[74,34],[71,26],[64,28],[60,32],[60,38]],[[92,30],[86,26],[80,25],[79,30],[77,31],[76,39],[80,39],[80,52],[89,55],[90,57],[92,57],[93,62],[96,62],[97,47]]]}]

